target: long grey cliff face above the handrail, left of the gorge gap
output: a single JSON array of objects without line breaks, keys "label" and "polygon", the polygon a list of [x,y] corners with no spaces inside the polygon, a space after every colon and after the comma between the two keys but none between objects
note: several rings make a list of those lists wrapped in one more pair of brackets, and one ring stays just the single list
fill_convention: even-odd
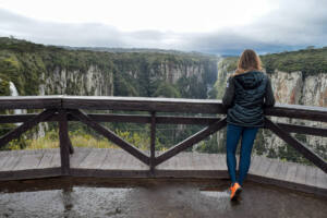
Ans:
[{"label": "long grey cliff face above the handrail, left of the gorge gap", "polygon": [[[153,96],[159,84],[165,82],[175,85],[180,88],[180,97],[192,97],[192,89],[197,90],[198,96],[194,98],[206,98],[207,89],[213,86],[213,81],[206,78],[207,74],[216,74],[217,68],[210,65],[210,72],[205,64],[171,64],[161,63],[158,66],[149,66],[146,69],[148,73],[144,73],[142,69],[133,70],[112,70],[106,71],[97,65],[90,65],[86,71],[68,70],[56,66],[53,71],[43,72],[40,76],[39,93],[37,95],[80,95],[80,96]],[[125,83],[124,90],[114,89],[114,85],[121,87],[122,81],[114,81],[116,76],[120,76]],[[133,82],[131,81],[133,80]],[[185,83],[182,83],[185,80]],[[195,84],[192,84],[195,83]],[[146,86],[153,85],[149,93],[142,93]],[[183,85],[183,87],[181,87]],[[194,86],[195,85],[195,86]],[[196,87],[196,85],[201,87]],[[130,92],[130,89],[134,92]],[[184,96],[183,94],[190,94]],[[164,96],[170,97],[170,96]]]}]

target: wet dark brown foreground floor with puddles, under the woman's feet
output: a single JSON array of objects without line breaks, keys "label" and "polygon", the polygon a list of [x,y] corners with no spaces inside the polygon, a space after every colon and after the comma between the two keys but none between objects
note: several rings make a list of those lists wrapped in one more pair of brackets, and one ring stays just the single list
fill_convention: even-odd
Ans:
[{"label": "wet dark brown foreground floor with puddles, under the woman's feet", "polygon": [[326,217],[327,199],[246,182],[61,178],[0,182],[0,217]]}]

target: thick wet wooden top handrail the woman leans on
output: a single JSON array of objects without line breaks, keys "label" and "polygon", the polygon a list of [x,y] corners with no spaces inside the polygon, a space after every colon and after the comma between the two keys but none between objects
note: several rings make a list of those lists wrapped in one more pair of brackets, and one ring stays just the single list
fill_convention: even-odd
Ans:
[{"label": "thick wet wooden top handrail the woman leans on", "polygon": [[[221,100],[146,97],[24,96],[0,97],[0,109],[90,109],[226,114]],[[266,116],[327,122],[327,108],[280,105],[265,110]]]}]

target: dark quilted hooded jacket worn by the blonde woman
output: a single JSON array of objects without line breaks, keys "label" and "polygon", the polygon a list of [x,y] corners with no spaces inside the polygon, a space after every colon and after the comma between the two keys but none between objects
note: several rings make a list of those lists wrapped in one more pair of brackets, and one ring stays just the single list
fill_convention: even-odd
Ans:
[{"label": "dark quilted hooded jacket worn by the blonde woman", "polygon": [[269,77],[261,71],[231,76],[228,80],[222,105],[228,108],[228,123],[240,126],[264,126],[264,108],[275,105]]}]

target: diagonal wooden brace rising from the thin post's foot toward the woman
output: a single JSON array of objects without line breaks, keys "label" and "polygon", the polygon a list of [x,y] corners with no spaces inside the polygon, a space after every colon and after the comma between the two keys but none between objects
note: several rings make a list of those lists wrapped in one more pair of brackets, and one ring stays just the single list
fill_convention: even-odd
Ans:
[{"label": "diagonal wooden brace rising from the thin post's foot toward the woman", "polygon": [[210,124],[209,126],[198,131],[197,133],[191,135],[183,142],[180,142],[179,144],[174,145],[170,149],[168,149],[166,153],[161,154],[156,158],[155,165],[160,165],[161,162],[166,161],[167,159],[175,156],[180,152],[193,146],[194,144],[198,143],[199,141],[204,140],[205,137],[214,134],[215,132],[221,130],[227,124],[226,118]]}]

